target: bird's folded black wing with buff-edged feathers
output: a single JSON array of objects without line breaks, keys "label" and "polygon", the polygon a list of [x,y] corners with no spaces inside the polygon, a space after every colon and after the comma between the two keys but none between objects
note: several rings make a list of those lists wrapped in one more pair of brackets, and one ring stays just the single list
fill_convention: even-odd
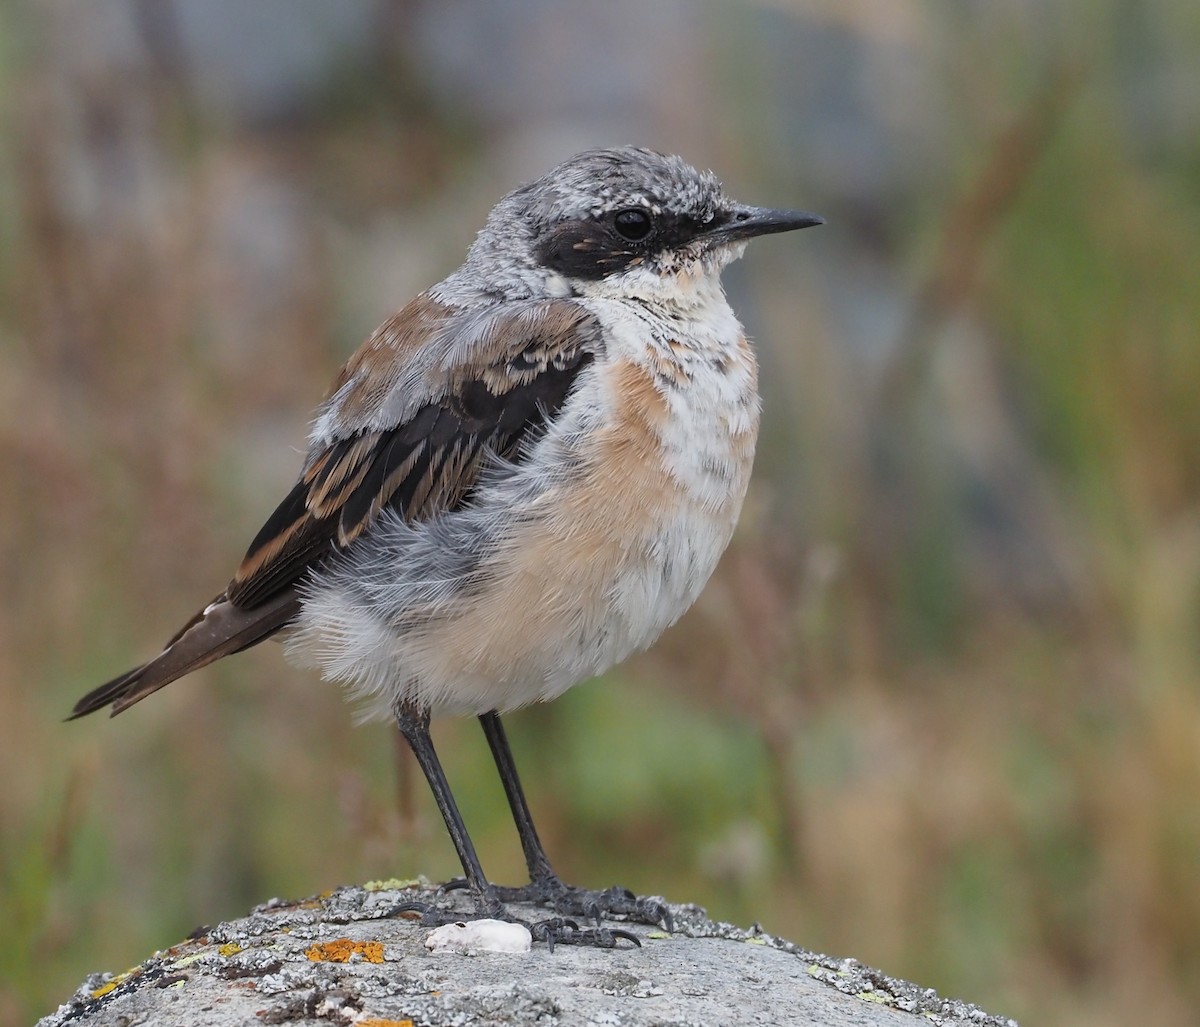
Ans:
[{"label": "bird's folded black wing with buff-edged feathers", "polygon": [[[593,316],[570,300],[474,319],[467,332],[454,325],[451,318],[433,328],[424,354],[377,334],[385,342],[373,338],[348,365],[354,371],[343,372],[344,384],[318,419],[328,434],[251,542],[229,584],[230,602],[265,601],[354,541],[382,510],[418,522],[461,505],[490,455],[514,458],[562,407],[599,340]],[[469,359],[438,367],[455,359],[464,335]],[[419,403],[414,356],[425,365]],[[401,401],[402,420],[373,426],[380,407]]]}]

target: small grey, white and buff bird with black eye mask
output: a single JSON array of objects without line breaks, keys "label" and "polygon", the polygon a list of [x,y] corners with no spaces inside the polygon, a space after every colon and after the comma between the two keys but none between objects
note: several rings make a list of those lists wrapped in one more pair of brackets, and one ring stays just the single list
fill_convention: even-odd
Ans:
[{"label": "small grey, white and buff bird with black eye mask", "polygon": [[[656,899],[562,882],[500,716],[650,645],[733,534],[760,421],[755,352],[721,271],[749,240],[822,224],[731,199],[682,157],[619,146],[508,193],[463,264],[383,323],[317,409],[299,479],[228,585],[68,720],[112,715],[215,660],[282,639],[394,720],[480,918],[532,901],[534,938],[612,948],[602,917]],[[529,884],[485,876],[430,737],[479,719]],[[427,924],[457,920],[413,903]]]}]

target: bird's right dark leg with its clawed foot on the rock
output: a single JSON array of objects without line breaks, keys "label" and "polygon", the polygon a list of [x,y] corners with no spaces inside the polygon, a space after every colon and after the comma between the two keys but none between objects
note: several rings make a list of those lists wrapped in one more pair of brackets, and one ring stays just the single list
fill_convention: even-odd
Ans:
[{"label": "bird's right dark leg with its clawed foot on the rock", "polygon": [[529,804],[526,801],[499,714],[494,710],[485,713],[479,717],[479,722],[482,725],[492,758],[496,761],[496,769],[504,785],[504,794],[512,810],[512,821],[521,837],[526,866],[529,869],[529,884],[523,888],[496,888],[496,895],[505,902],[544,902],[559,913],[595,920],[606,913],[620,914],[638,923],[659,924],[670,931],[673,926],[671,911],[656,899],[642,899],[626,888],[613,887],[605,891],[590,891],[563,883],[550,865],[546,849],[538,837],[538,829],[533,824]]}]

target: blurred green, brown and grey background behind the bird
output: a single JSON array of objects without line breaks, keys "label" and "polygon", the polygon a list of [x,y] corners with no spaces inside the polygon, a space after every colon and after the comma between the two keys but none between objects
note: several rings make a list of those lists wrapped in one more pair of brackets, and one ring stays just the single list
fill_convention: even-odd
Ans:
[{"label": "blurred green, brown and grey background behind the bird", "polygon": [[[0,4],[0,1025],[275,895],[457,872],[220,590],[353,348],[640,143],[828,224],[727,275],[763,437],[697,607],[510,733],[564,878],[1030,1022],[1200,1004],[1200,5]],[[473,721],[437,726],[494,879]]]}]

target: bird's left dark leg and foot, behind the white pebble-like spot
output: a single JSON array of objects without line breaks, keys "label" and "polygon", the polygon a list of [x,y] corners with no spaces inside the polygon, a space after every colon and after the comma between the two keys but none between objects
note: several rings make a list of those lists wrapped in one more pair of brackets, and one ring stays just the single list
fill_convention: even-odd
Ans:
[{"label": "bird's left dark leg and foot, behind the white pebble-like spot", "polygon": [[[499,721],[497,721],[498,723]],[[442,761],[438,759],[438,755],[433,749],[433,739],[430,737],[428,711],[414,709],[408,704],[400,704],[396,708],[396,725],[400,727],[400,733],[404,735],[409,749],[413,750],[413,755],[416,757],[416,762],[425,774],[425,780],[430,782],[433,800],[437,803],[438,811],[445,821],[450,841],[454,842],[455,851],[458,853],[458,860],[462,863],[463,873],[467,875],[466,883],[475,894],[475,907],[480,918],[494,918],[523,924],[523,920],[518,920],[508,913],[498,895],[498,889],[484,876],[484,869],[479,863],[479,855],[475,853],[475,846],[470,840],[470,835],[467,834],[467,825],[463,823],[462,813],[458,812],[458,804],[455,803],[454,794],[450,792],[450,782],[446,781],[445,771],[442,769]],[[510,764],[511,761],[512,757],[510,755]],[[508,791],[509,786],[506,781],[504,787]],[[517,782],[516,787],[520,794],[520,782]],[[510,801],[512,801],[511,798]],[[521,795],[521,804],[524,806],[523,795]],[[526,807],[527,819],[528,812],[528,807]],[[533,830],[532,822],[529,823],[529,830]],[[540,849],[541,843],[538,842],[536,834],[533,835],[533,839],[535,846]],[[542,863],[545,863],[547,872],[553,877],[553,871],[550,870],[550,864],[546,863],[545,855],[542,855]],[[557,879],[554,878],[554,881]],[[560,884],[559,887],[563,885]],[[394,914],[418,912],[421,914],[421,923],[426,926],[452,924],[461,919],[455,913],[438,909],[434,906],[422,902],[404,902],[396,906],[391,912]],[[554,944],[576,944],[611,949],[616,948],[618,941],[628,941],[635,945],[641,945],[641,942],[628,931],[614,931],[600,926],[580,927],[574,920],[565,920],[560,917],[538,924],[526,924],[526,926],[529,927],[534,938],[546,942],[551,948]]]}]

